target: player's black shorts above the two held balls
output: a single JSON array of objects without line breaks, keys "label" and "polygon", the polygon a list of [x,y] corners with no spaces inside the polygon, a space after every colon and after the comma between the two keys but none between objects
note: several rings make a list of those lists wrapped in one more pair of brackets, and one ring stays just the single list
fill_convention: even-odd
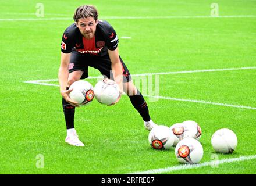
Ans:
[{"label": "player's black shorts above the two held balls", "polygon": [[[129,70],[123,63],[123,60],[119,56],[119,59],[122,63],[123,69],[123,82],[131,81],[131,75]],[[81,54],[77,51],[72,51],[70,63],[69,63],[69,73],[73,71],[81,70],[83,71],[83,75],[81,79],[85,79],[88,77],[88,67],[93,67],[94,69],[98,69],[102,75],[108,77],[113,80],[113,74],[111,71],[111,60],[109,59],[109,55],[105,56],[93,56],[89,54]]]}]

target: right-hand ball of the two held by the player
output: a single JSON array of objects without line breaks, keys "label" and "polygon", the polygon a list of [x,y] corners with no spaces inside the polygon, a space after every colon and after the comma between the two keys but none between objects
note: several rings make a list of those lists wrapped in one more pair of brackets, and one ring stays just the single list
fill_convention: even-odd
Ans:
[{"label": "right-hand ball of the two held by the player", "polygon": [[95,84],[94,95],[99,103],[113,105],[120,95],[118,84],[111,79],[104,78]]}]

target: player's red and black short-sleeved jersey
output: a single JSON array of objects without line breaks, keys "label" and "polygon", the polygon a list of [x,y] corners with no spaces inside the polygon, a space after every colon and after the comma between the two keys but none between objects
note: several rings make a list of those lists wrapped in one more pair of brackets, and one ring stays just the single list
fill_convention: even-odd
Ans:
[{"label": "player's red and black short-sleeved jersey", "polygon": [[118,36],[113,27],[105,20],[98,20],[94,38],[88,40],[80,33],[79,28],[73,23],[63,33],[61,51],[70,53],[76,50],[79,53],[104,56],[108,50],[118,47]]}]

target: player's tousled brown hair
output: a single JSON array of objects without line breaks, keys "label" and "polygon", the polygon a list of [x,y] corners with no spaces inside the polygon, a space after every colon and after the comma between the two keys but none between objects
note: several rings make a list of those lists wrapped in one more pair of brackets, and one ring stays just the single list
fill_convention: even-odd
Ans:
[{"label": "player's tousled brown hair", "polygon": [[82,5],[74,12],[74,21],[77,23],[80,18],[93,17],[98,19],[98,10],[93,5]]}]

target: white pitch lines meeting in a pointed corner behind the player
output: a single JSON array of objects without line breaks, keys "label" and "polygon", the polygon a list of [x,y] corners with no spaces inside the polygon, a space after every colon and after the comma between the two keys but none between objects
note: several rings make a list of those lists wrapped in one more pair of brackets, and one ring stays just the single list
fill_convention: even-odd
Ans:
[{"label": "white pitch lines meeting in a pointed corner behind the player", "polygon": [[[132,75],[132,77],[138,77],[138,76],[153,76],[153,75],[168,75],[168,74],[204,73],[204,72],[227,71],[227,70],[248,70],[248,69],[256,69],[256,67],[240,67],[240,68],[208,69],[208,70],[189,70],[189,71],[169,71],[169,72],[162,72],[162,73],[134,74],[134,75]],[[99,79],[99,78],[102,78],[102,76],[88,77],[87,79]],[[58,81],[58,79],[51,79],[51,80],[32,80],[32,81],[24,81],[24,83],[31,83],[31,84],[39,84],[39,85],[47,85],[47,86],[59,87],[58,84],[45,83],[45,82],[51,82],[51,81]],[[256,110],[256,108],[251,107],[251,106],[231,105],[231,104],[226,104],[226,103],[215,103],[215,102],[209,102],[209,101],[203,101],[203,100],[170,98],[170,97],[153,96],[153,95],[144,95],[144,96],[145,96],[145,97],[149,97],[149,98],[168,99],[168,100],[173,100],[173,101],[194,102],[194,103],[203,103],[203,104],[208,104],[208,105],[218,105],[218,106],[227,106],[227,107],[233,107],[233,108],[241,108],[241,109]]]}]

